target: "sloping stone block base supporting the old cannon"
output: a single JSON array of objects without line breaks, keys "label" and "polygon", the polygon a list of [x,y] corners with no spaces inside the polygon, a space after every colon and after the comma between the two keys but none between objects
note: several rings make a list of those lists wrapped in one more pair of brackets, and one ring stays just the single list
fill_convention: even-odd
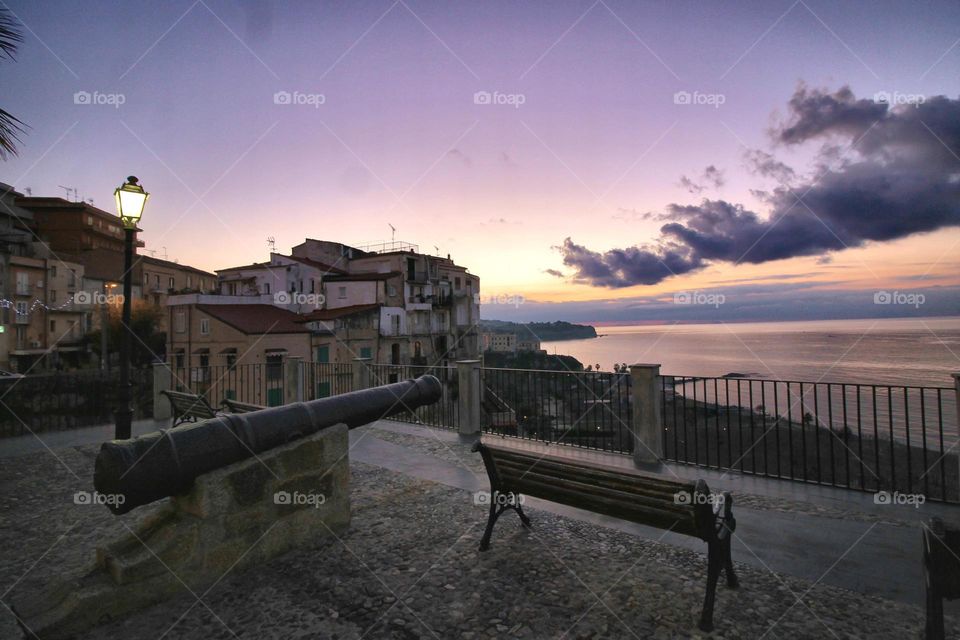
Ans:
[{"label": "sloping stone block base supporting the old cannon", "polygon": [[348,430],[339,424],[197,478],[185,495],[97,549],[94,567],[13,609],[40,638],[67,638],[343,532]]}]

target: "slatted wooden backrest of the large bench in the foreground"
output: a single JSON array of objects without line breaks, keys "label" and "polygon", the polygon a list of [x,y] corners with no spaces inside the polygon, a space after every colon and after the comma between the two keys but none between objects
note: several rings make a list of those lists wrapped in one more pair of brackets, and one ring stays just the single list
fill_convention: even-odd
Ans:
[{"label": "slatted wooden backrest of the large bench in the foreground", "polygon": [[702,480],[642,474],[488,443],[476,448],[494,491],[534,496],[703,540],[716,535],[710,490]]}]

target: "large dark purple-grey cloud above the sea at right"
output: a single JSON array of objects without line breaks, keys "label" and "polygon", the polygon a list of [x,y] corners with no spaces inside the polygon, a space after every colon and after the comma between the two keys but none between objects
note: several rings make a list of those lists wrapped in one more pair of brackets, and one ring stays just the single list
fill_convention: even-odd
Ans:
[{"label": "large dark purple-grey cloud above the sea at right", "polygon": [[[820,163],[829,169],[766,193],[767,216],[705,199],[668,205],[667,224],[648,245],[598,253],[568,238],[560,251],[573,279],[611,288],[655,284],[714,262],[822,256],[960,224],[960,161],[951,151],[960,150],[960,100],[889,108],[857,100],[847,87],[800,86],[789,107],[774,139],[825,143]],[[795,176],[769,154],[754,160],[759,173]]]}]

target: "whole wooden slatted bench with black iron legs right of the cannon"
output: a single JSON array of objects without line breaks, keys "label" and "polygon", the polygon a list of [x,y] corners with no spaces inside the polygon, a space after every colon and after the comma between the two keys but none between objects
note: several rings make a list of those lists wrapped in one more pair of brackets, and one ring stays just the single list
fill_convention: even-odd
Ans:
[{"label": "whole wooden slatted bench with black iron legs right of the cannon", "polygon": [[713,629],[713,604],[721,569],[737,587],[730,540],[736,529],[729,493],[718,499],[703,480],[687,482],[632,469],[602,466],[539,451],[477,442],[490,478],[490,515],[480,550],[490,547],[497,518],[513,509],[524,527],[521,495],[700,538],[707,543],[707,591],[700,629]]}]

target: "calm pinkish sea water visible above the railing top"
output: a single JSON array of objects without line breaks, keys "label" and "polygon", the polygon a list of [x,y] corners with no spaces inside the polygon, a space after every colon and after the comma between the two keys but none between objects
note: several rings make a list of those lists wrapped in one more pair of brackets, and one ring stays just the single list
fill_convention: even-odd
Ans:
[{"label": "calm pinkish sea water visible above the railing top", "polygon": [[597,333],[602,337],[542,346],[605,371],[615,362],[649,362],[678,376],[953,387],[950,374],[960,371],[960,316],[611,326]]}]

